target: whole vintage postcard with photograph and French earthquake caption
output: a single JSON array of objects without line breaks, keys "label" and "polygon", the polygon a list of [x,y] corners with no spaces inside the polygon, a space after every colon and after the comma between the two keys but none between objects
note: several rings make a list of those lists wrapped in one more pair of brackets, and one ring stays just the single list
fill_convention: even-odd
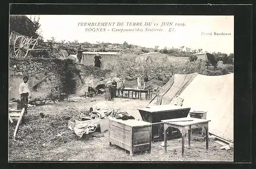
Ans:
[{"label": "whole vintage postcard with photograph and French earthquake caption", "polygon": [[233,161],[234,16],[9,20],[9,162]]}]

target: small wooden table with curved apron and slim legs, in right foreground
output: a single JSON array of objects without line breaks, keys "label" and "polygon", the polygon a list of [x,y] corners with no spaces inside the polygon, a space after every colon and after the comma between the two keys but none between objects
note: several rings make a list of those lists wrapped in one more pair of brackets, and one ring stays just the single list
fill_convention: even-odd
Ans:
[{"label": "small wooden table with curved apron and slim legs, in right foreground", "polygon": [[165,152],[166,152],[166,149],[167,149],[166,132],[167,132],[167,129],[169,127],[177,128],[181,132],[181,135],[182,135],[182,142],[181,142],[181,144],[182,144],[182,147],[181,147],[182,157],[184,157],[185,134],[186,134],[187,130],[188,130],[188,148],[190,149],[191,129],[204,127],[205,131],[206,131],[206,138],[205,138],[206,139],[206,150],[208,150],[208,146],[209,146],[208,122],[210,122],[210,120],[185,117],[185,118],[167,119],[167,120],[161,120],[161,121],[164,122],[164,151]]}]

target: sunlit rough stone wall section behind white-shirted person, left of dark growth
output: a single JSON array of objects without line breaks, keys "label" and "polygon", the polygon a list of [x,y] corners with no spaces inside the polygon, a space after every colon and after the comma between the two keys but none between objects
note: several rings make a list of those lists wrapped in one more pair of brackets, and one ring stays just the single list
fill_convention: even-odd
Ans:
[{"label": "sunlit rough stone wall section behind white-shirted person, left of dark growth", "polygon": [[[42,94],[44,96],[46,93],[49,94],[49,90],[52,95],[59,94],[63,90],[63,82],[66,79],[65,63],[65,60],[60,59],[10,58],[9,86],[12,87],[12,90],[15,89],[14,93],[17,92],[23,77],[28,76],[32,94],[34,92],[34,95],[38,95],[36,89],[39,88],[39,85],[41,88],[39,93],[44,93]],[[16,68],[13,67],[14,65]]]}]

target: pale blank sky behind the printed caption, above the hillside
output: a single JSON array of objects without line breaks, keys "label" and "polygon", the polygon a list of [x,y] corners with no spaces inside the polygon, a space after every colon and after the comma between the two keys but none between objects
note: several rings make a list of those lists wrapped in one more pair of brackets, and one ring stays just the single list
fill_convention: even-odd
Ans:
[{"label": "pale blank sky behind the printed caption, above the hillside", "polygon": [[[159,46],[159,49],[185,46],[203,49],[203,52],[233,53],[233,16],[195,15],[27,15],[38,17],[39,32],[45,40],[54,37],[56,41],[110,42],[134,44],[144,47]],[[88,23],[99,26],[89,26]],[[101,23],[107,22],[107,26]],[[114,22],[114,23],[113,23]],[[123,22],[123,26],[121,26]],[[151,26],[146,26],[149,22]],[[167,26],[162,26],[167,22]],[[84,23],[87,23],[84,26]],[[128,26],[127,26],[128,23]],[[131,23],[131,26],[130,26]],[[133,24],[135,23],[135,26]],[[179,25],[178,25],[179,23]],[[81,26],[81,24],[83,24]],[[114,25],[113,25],[114,24]],[[119,25],[117,25],[119,24]],[[158,25],[157,25],[158,24]],[[172,24],[172,25],[170,25]],[[105,29],[104,32],[92,30]],[[116,32],[117,29],[130,29],[130,32]],[[140,31],[131,31],[138,29]],[[160,29],[160,31],[146,31]],[[169,32],[171,30],[171,32]],[[91,31],[91,32],[89,32]],[[215,35],[214,33],[228,33]],[[185,48],[184,48],[185,49]]]}]

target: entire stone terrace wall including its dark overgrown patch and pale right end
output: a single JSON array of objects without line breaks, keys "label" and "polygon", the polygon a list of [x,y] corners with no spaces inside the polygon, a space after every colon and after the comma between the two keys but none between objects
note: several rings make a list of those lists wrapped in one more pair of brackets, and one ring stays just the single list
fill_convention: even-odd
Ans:
[{"label": "entire stone terrace wall including its dark overgrown patch and pale right end", "polygon": [[[81,86],[92,85],[106,79],[105,70],[95,69],[93,66],[85,66],[75,63],[73,60],[42,59],[42,58],[10,58],[9,60],[9,98],[19,99],[18,87],[23,82],[23,77],[28,76],[32,98],[49,98],[59,96],[60,92],[75,94]],[[97,83],[97,84],[98,84]],[[104,83],[100,82],[100,83]],[[96,85],[96,84],[95,84]]]}]

